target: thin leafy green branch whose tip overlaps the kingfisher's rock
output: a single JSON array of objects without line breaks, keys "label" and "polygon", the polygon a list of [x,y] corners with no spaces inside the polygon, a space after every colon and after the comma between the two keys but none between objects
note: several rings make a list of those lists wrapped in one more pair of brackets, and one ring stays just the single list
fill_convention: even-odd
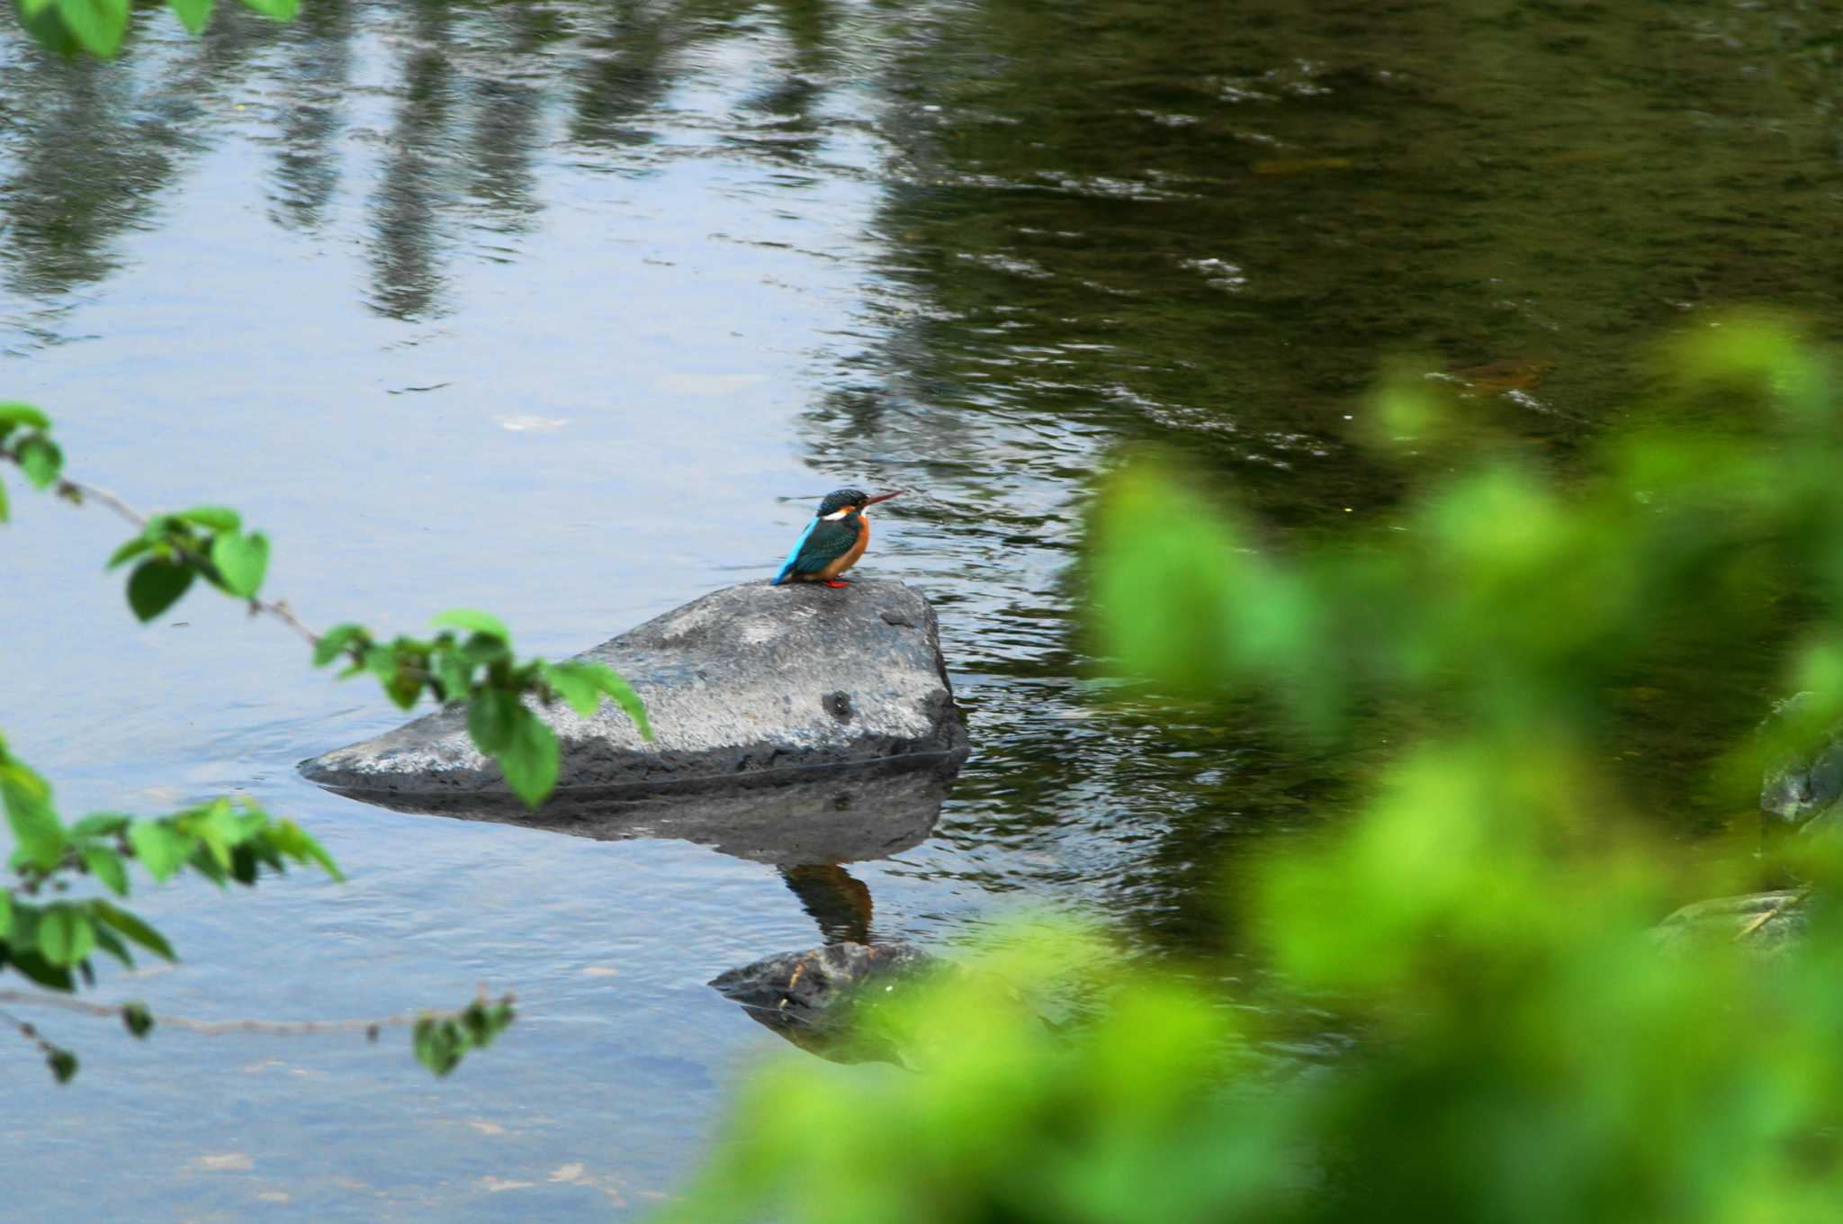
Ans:
[{"label": "thin leafy green branch whose tip overlaps the kingfisher's rock", "polygon": [[[313,647],[315,667],[345,660],[341,680],[376,677],[385,697],[402,710],[413,708],[424,693],[442,704],[464,702],[474,745],[499,763],[507,785],[529,807],[538,807],[557,785],[558,745],[557,734],[525,704],[527,695],[542,706],[562,700],[584,719],[608,697],[645,739],[652,739],[645,706],[619,673],[582,660],[520,660],[505,623],[487,612],[442,612],[433,619],[442,629],[435,638],[380,640],[356,623],[315,632],[286,599],[260,595],[269,570],[269,538],[245,531],[236,511],[199,505],[142,514],[116,494],[65,476],[65,455],[50,430],[50,418],[29,404],[0,404],[0,459],[17,465],[39,490],[53,490],[72,505],[96,501],[135,525],[136,535],[116,547],[109,568],[136,562],[127,577],[127,603],[142,623],[171,608],[203,579],[241,601],[251,616],[271,616],[300,634]],[[6,490],[0,488],[0,522],[6,518]]]}]

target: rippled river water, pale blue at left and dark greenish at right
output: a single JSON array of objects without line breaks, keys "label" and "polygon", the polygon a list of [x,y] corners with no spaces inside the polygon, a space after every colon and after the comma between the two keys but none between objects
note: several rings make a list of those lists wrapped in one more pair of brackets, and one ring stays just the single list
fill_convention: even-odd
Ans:
[{"label": "rippled river water, pale blue at left and dark greenish at right", "polygon": [[[57,418],[79,479],[240,507],[315,625],[487,606],[549,656],[769,573],[804,494],[907,487],[866,571],[936,603],[975,754],[933,837],[848,868],[870,931],[942,947],[1051,909],[1233,975],[1238,874],[1334,817],[1388,726],[1314,752],[1251,706],[1119,700],[1074,618],[1097,474],[1163,444],[1275,540],[1325,538],[1404,490],[1356,441],[1384,359],[1567,466],[1640,411],[1672,328],[1773,302],[1834,335],[1839,17],[308,0],[205,39],[144,11],[112,65],[7,31],[0,398]],[[776,1045],[704,983],[837,933],[809,881],[319,793],[295,761],[393,726],[374,691],[227,601],[136,629],[101,573],[125,531],[9,488],[0,728],[63,807],[241,791],[352,876],[136,892],[186,959],[98,997],[372,1016],[488,981],[523,1018],[435,1082],[391,1038],[35,1016],[85,1069],[53,1088],[0,1047],[4,1215],[669,1195]],[[1609,752],[1686,828],[1727,820],[1699,780],[1782,629],[1609,695]]]}]

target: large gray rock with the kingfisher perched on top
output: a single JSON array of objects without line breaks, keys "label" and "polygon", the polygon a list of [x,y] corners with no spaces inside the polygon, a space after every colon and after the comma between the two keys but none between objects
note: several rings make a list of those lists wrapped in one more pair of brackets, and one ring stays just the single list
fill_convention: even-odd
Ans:
[{"label": "large gray rock with the kingfisher perched on top", "polygon": [[[641,741],[608,702],[592,719],[562,704],[538,710],[562,745],[560,800],[966,756],[934,610],[890,579],[728,586],[577,658],[627,677],[656,739]],[[385,804],[511,796],[459,706],[302,761],[300,772]]]}]

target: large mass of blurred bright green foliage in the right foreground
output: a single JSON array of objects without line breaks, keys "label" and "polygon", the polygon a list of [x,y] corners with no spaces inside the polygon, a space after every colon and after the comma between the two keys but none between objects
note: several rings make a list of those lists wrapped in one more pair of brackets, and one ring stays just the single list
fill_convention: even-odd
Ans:
[{"label": "large mass of blurred bright green foliage in the right foreground", "polygon": [[[1607,691],[1685,619],[1720,638],[1760,575],[1812,601],[1777,677],[1843,691],[1843,420],[1828,352],[1732,317],[1668,354],[1679,411],[1555,474],[1426,382],[1371,406],[1419,496],[1275,547],[1170,461],[1124,465],[1093,525],[1097,638],[1181,693],[1257,691],[1301,736],[1403,710],[1338,830],[1235,903],[1270,986],[1126,966],[1095,935],[1012,936],[861,1023],[916,1073],[781,1062],[669,1215],[1041,1220],[1830,1220],[1843,1193],[1836,848],[1790,839],[1802,938],[1685,900],[1762,863],[1635,818]],[[1721,433],[1688,424],[1720,402]],[[1736,759],[1758,759],[1738,747]],[[1756,769],[1756,763],[1755,763]],[[1758,772],[1753,774],[1758,780]],[[1030,999],[1097,994],[1052,1027]],[[1351,1034],[1345,1056],[1286,1045]],[[1329,1065],[1327,1065],[1329,1062]]]}]

